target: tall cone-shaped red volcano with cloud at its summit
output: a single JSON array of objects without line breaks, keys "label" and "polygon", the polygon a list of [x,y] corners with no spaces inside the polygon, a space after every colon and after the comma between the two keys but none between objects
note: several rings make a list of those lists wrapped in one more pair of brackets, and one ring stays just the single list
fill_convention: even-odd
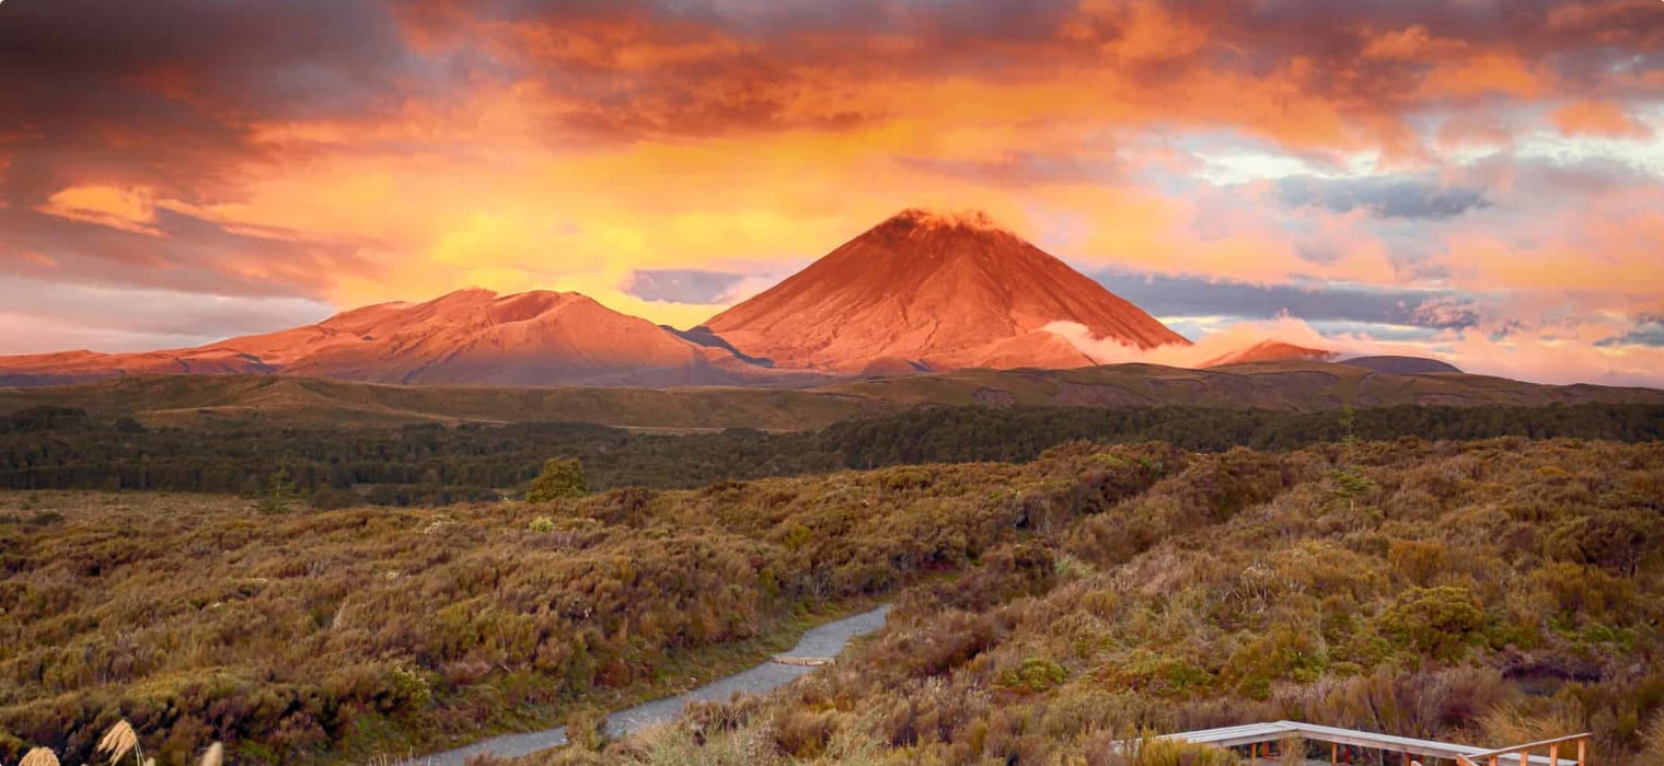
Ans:
[{"label": "tall cone-shaped red volcano with cloud at its summit", "polygon": [[983,213],[922,209],[892,216],[701,329],[782,369],[1095,364],[1043,329],[1058,321],[1135,349],[1190,342]]}]

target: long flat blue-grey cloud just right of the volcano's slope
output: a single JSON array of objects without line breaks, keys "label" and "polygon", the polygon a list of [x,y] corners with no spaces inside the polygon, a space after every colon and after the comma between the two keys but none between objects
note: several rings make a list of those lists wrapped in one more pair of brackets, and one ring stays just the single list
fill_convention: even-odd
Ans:
[{"label": "long flat blue-grey cloud just right of the volcano's slope", "polygon": [[1112,292],[1155,316],[1233,316],[1273,319],[1290,314],[1308,322],[1371,322],[1463,329],[1479,322],[1473,301],[1453,292],[1389,287],[1210,282],[1206,279],[1098,273]]}]

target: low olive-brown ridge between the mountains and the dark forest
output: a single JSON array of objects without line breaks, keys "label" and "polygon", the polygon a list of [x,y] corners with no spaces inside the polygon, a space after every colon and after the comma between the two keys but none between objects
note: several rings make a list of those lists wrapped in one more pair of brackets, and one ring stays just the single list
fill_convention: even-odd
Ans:
[{"label": "low olive-brown ridge between the mountains and the dark forest", "polygon": [[1664,390],[1539,385],[1499,377],[1399,376],[1351,364],[1255,362],[1191,371],[1117,364],[845,381],[814,389],[378,385],[271,376],[155,376],[0,389],[0,412],[82,407],[150,424],[258,420],[306,425],[581,420],[632,429],[800,430],[917,405],[1215,405],[1323,410],[1398,404],[1664,404]]}]

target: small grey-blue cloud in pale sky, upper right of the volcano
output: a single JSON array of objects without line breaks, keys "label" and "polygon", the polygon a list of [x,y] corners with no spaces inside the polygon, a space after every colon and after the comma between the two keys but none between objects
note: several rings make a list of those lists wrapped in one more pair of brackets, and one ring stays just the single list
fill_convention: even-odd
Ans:
[{"label": "small grey-blue cloud in pale sky, upper right of the volcano", "polygon": [[1276,196],[1291,206],[1316,204],[1335,213],[1361,208],[1376,218],[1444,219],[1491,206],[1481,189],[1419,178],[1293,176],[1276,183]]}]

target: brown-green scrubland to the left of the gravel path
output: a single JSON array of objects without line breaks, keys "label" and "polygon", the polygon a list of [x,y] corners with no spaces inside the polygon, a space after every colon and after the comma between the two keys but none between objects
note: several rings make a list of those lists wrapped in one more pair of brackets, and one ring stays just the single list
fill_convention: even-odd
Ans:
[{"label": "brown-green scrubland to the left of the gravel path", "polygon": [[211,739],[235,763],[296,763],[611,708],[1181,462],[1146,452],[429,510],[13,493],[0,759],[85,759],[118,716],[165,763]]}]

